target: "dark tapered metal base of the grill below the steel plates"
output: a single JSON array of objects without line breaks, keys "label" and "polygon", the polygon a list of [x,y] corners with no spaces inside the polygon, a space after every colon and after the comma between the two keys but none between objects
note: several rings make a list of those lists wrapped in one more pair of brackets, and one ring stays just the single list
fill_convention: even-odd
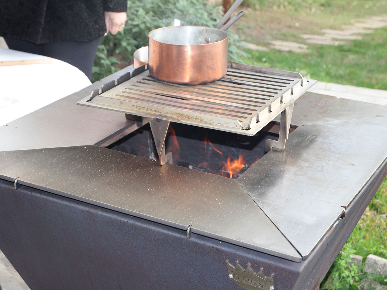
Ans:
[{"label": "dark tapered metal base of the grill below the steel plates", "polygon": [[241,289],[225,260],[274,273],[276,290],[313,290],[387,174],[368,181],[301,263],[0,180],[0,248],[31,290]]}]

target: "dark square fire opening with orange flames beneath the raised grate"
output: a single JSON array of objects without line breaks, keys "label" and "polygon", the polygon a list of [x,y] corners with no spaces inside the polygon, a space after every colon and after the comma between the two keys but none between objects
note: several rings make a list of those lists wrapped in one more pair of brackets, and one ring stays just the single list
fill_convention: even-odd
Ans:
[{"label": "dark square fire opening with orange flames beneath the raised grate", "polygon": [[[254,136],[171,123],[165,146],[166,152],[172,152],[175,165],[237,178],[265,155],[266,140],[278,139],[278,131],[275,123]],[[159,158],[149,124],[108,148],[154,160]]]}]

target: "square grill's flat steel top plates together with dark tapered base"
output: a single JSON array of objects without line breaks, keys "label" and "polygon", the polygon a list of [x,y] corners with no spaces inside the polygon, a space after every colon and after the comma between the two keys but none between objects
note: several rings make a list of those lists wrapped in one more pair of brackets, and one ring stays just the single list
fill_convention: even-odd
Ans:
[{"label": "square grill's flat steel top plates together with dark tapered base", "polygon": [[307,92],[287,148],[231,181],[91,146],[138,128],[75,106],[129,70],[0,127],[0,249],[31,290],[241,289],[225,260],[314,290],[387,174],[387,109]]}]

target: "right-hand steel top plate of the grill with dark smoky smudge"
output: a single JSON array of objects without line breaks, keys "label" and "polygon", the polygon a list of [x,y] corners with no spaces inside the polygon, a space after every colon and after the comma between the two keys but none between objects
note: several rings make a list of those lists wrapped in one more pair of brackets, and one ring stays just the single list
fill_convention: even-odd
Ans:
[{"label": "right-hand steel top plate of the grill with dark smoky smudge", "polygon": [[387,157],[387,117],[296,128],[239,183],[305,258]]}]

